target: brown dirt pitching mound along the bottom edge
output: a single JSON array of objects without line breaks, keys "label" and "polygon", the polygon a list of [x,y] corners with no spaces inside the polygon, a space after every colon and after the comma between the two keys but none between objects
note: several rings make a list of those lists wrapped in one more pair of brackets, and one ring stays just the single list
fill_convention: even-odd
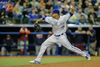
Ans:
[{"label": "brown dirt pitching mound along the bottom edge", "polygon": [[100,60],[72,61],[72,62],[48,63],[48,64],[32,64],[32,65],[10,66],[10,67],[100,67]]}]

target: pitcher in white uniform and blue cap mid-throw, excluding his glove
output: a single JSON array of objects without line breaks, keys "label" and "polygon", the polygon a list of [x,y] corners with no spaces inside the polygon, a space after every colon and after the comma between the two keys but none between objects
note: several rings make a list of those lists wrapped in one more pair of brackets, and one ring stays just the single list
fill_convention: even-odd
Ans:
[{"label": "pitcher in white uniform and blue cap mid-throw, excluding his glove", "polygon": [[36,23],[45,20],[49,24],[52,25],[53,29],[53,35],[47,38],[41,45],[40,52],[37,56],[37,58],[33,61],[29,61],[30,63],[40,64],[41,58],[46,50],[46,48],[50,45],[53,45],[54,43],[59,43],[66,47],[68,50],[71,50],[77,54],[80,54],[81,56],[86,57],[86,59],[91,60],[91,57],[89,54],[86,54],[85,52],[81,51],[77,47],[74,47],[71,45],[71,43],[68,41],[66,37],[66,22],[67,20],[73,16],[74,14],[74,7],[71,7],[70,12],[66,15],[60,16],[59,10],[53,10],[52,11],[52,17],[43,17],[36,21]]}]

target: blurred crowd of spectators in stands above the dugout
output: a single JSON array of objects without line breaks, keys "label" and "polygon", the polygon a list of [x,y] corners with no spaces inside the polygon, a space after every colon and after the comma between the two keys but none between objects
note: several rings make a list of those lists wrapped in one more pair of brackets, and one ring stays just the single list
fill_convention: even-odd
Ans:
[{"label": "blurred crowd of spectators in stands above the dugout", "polygon": [[100,25],[99,0],[0,0],[0,24],[15,21],[17,24],[32,24],[44,16],[51,16],[53,9],[65,15],[70,6],[76,11],[68,24]]}]

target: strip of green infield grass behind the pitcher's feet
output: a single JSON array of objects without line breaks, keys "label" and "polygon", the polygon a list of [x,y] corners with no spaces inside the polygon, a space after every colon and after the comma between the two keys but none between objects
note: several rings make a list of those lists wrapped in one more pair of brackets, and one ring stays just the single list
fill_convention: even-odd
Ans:
[{"label": "strip of green infield grass behind the pitcher's feet", "polygon": [[[100,57],[91,57],[92,60],[100,60]],[[34,60],[35,57],[7,57],[0,58],[0,67],[1,66],[18,66],[18,65],[31,65],[29,61]],[[68,61],[85,61],[84,57],[43,57],[41,64],[44,63],[57,63],[57,62],[68,62]]]}]

